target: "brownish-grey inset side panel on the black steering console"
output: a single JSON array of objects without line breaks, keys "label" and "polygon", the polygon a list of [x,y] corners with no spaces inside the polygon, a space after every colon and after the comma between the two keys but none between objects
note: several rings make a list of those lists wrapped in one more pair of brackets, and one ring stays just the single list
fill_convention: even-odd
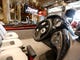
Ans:
[{"label": "brownish-grey inset side panel on the black steering console", "polygon": [[63,40],[62,40],[62,32],[58,31],[53,33],[52,37],[51,37],[51,43],[52,45],[54,45],[57,49],[57,59],[59,58],[61,49],[62,49],[62,44],[63,44]]}]

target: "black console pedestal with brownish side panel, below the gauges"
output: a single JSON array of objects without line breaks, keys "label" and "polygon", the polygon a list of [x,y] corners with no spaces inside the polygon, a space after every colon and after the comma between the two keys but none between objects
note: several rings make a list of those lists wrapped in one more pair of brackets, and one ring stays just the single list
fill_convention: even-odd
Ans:
[{"label": "black console pedestal with brownish side panel, below the gauges", "polygon": [[64,30],[53,33],[51,37],[51,43],[57,49],[56,60],[62,60],[70,47],[70,40],[67,40]]}]

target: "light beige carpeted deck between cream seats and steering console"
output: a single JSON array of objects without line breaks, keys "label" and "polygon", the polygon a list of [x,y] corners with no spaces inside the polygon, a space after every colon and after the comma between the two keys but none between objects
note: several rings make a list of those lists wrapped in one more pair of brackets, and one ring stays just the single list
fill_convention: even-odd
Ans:
[{"label": "light beige carpeted deck between cream seats and steering console", "polygon": [[24,46],[31,45],[37,56],[34,60],[39,60],[40,56],[50,50],[48,46],[43,44],[42,42],[36,42],[34,39],[23,39],[22,40]]}]

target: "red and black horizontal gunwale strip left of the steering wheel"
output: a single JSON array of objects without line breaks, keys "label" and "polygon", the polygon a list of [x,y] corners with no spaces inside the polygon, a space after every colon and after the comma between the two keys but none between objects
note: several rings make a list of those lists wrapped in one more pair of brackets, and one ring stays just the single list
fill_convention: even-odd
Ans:
[{"label": "red and black horizontal gunwale strip left of the steering wheel", "polygon": [[23,24],[23,25],[4,25],[6,30],[24,30],[24,29],[35,29],[34,24]]}]

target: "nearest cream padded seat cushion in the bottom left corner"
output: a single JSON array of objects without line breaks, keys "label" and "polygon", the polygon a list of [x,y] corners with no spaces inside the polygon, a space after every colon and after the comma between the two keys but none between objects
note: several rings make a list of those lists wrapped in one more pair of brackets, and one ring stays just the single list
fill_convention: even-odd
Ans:
[{"label": "nearest cream padded seat cushion in the bottom left corner", "polygon": [[20,48],[11,48],[0,53],[0,60],[28,60]]}]

